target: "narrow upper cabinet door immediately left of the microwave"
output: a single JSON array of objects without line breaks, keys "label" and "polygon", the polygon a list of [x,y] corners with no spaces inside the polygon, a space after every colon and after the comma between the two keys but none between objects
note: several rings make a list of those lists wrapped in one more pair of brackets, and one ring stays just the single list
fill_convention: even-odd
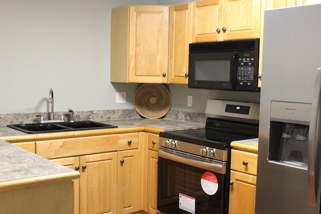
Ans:
[{"label": "narrow upper cabinet door immediately left of the microwave", "polygon": [[171,7],[170,83],[187,84],[192,43],[192,3]]}]

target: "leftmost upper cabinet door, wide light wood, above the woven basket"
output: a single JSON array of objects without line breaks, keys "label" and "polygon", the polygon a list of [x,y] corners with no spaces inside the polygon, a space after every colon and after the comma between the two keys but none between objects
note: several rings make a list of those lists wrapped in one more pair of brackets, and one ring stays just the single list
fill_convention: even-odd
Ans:
[{"label": "leftmost upper cabinet door, wide light wood, above the woven basket", "polygon": [[168,48],[169,7],[130,7],[129,82],[168,83]]}]

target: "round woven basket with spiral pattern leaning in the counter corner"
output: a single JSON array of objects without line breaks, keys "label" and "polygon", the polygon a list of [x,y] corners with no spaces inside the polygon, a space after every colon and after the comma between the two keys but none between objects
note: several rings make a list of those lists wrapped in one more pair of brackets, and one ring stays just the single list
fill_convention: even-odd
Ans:
[{"label": "round woven basket with spiral pattern leaning in the counter corner", "polygon": [[145,118],[163,117],[171,107],[172,96],[162,84],[145,83],[136,90],[134,106],[138,114]]}]

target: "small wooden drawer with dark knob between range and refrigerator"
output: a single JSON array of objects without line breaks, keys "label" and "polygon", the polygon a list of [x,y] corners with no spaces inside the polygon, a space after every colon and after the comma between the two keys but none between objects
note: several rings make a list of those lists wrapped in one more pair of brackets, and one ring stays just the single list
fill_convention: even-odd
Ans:
[{"label": "small wooden drawer with dark knob between range and refrigerator", "polygon": [[257,154],[232,149],[231,169],[256,175]]}]

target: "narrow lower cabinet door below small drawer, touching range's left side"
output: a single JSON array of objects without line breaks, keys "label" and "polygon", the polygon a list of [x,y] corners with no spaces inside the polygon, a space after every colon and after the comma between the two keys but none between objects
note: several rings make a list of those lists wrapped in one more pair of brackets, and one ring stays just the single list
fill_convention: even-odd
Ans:
[{"label": "narrow lower cabinet door below small drawer, touching range's left side", "polygon": [[148,150],[147,156],[147,212],[157,213],[157,151]]}]

